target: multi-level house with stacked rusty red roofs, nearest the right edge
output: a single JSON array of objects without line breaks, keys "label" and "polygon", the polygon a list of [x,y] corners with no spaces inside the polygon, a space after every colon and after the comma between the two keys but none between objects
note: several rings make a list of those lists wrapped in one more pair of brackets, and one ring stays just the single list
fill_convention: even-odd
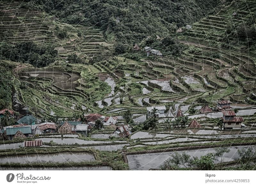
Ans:
[{"label": "multi-level house with stacked rusty red roofs, nearest the right edge", "polygon": [[236,117],[234,111],[222,111],[224,129],[242,128],[243,117]]}]

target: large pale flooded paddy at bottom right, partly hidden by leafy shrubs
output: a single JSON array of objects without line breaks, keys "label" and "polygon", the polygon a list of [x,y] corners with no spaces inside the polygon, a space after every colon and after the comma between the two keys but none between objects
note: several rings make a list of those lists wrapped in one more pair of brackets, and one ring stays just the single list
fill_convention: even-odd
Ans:
[{"label": "large pale flooded paddy at bottom right, partly hidden by leafy shrubs", "polygon": [[[254,147],[255,145],[250,146],[233,146],[230,147],[230,152],[223,155],[222,161],[233,161],[235,158],[238,158],[237,149],[242,147]],[[214,148],[200,149],[200,150],[188,150],[188,151],[176,151],[178,153],[186,152],[190,156],[201,157],[207,153],[214,153]],[[174,152],[159,152],[159,153],[149,153],[149,154],[135,154],[128,155],[128,165],[131,170],[149,170],[150,168],[159,168],[160,165],[164,163],[166,159],[170,157]],[[214,163],[219,163],[220,157],[214,161]]]}]

